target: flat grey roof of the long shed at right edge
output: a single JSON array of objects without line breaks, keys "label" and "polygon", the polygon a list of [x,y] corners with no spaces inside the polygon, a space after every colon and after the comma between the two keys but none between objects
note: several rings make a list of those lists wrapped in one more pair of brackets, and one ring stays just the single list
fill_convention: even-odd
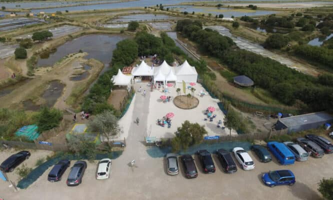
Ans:
[{"label": "flat grey roof of the long shed at right edge", "polygon": [[289,116],[285,118],[280,118],[279,121],[282,122],[287,127],[305,125],[310,123],[319,123],[333,120],[333,116],[326,112],[313,112],[308,114]]}]

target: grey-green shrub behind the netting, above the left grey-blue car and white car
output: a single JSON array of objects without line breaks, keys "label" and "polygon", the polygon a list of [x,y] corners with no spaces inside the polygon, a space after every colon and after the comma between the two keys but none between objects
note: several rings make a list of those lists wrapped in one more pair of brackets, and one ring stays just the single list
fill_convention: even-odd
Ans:
[{"label": "grey-green shrub behind the netting, above the left grey-blue car and white car", "polygon": [[96,158],[96,144],[84,134],[70,134],[67,142],[69,149],[76,154],[86,155],[89,160]]}]

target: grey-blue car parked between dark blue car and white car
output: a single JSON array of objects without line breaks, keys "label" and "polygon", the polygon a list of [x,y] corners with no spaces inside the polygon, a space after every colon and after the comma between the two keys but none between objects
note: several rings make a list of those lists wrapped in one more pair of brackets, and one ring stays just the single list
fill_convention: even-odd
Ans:
[{"label": "grey-blue car parked between dark blue car and white car", "polygon": [[82,160],[78,160],[74,163],[71,167],[68,178],[67,178],[67,185],[78,185],[82,182],[82,177],[84,171],[86,169],[86,162]]}]

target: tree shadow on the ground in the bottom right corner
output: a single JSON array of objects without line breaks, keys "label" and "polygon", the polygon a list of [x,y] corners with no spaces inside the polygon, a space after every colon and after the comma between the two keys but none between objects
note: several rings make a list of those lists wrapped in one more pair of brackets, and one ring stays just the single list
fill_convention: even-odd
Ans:
[{"label": "tree shadow on the ground in the bottom right corner", "polygon": [[320,195],[313,190],[313,188],[310,188],[306,184],[302,182],[297,182],[289,187],[289,190],[291,193],[300,199],[307,199],[307,200],[319,200],[321,199]]}]

